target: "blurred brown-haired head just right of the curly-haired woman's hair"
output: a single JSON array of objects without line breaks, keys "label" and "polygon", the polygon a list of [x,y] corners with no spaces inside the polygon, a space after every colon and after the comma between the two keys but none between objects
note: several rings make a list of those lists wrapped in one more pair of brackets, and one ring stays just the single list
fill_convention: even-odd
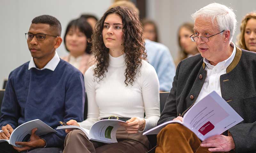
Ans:
[{"label": "blurred brown-haired head just right of the curly-haired woman's hair", "polygon": [[159,42],[156,23],[153,20],[149,19],[143,19],[141,23],[143,26],[144,37],[151,41]]}]

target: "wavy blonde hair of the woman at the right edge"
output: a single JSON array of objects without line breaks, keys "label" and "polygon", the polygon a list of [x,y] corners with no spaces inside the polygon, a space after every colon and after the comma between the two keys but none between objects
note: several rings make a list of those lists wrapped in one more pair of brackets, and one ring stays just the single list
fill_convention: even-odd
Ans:
[{"label": "wavy blonde hair of the woman at the right edge", "polygon": [[251,18],[256,19],[256,12],[251,12],[244,16],[244,18],[241,22],[241,25],[240,25],[240,34],[237,36],[237,39],[238,39],[237,44],[239,45],[240,48],[245,49],[245,50],[249,50],[246,47],[245,40],[244,40],[245,27],[247,25],[248,20]]}]

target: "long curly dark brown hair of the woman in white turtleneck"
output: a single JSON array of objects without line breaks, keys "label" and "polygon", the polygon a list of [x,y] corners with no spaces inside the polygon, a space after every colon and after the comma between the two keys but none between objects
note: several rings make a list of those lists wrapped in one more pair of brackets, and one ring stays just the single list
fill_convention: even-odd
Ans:
[{"label": "long curly dark brown hair of the woman in white turtleneck", "polygon": [[136,13],[125,7],[110,8],[105,12],[103,17],[97,22],[95,26],[95,33],[92,35],[92,52],[97,61],[94,69],[94,77],[99,82],[108,72],[109,66],[109,49],[104,45],[102,38],[102,30],[104,21],[109,14],[117,14],[122,18],[123,23],[123,39],[125,55],[125,81],[126,85],[131,84],[137,79],[136,74],[140,72],[141,62],[146,59],[147,53],[144,47],[143,30],[140,20]]}]

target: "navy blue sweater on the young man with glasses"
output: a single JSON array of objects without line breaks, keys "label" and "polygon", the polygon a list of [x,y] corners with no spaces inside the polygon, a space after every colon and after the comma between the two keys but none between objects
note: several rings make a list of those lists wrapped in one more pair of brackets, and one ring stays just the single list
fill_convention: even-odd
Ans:
[{"label": "navy blue sweater on the young man with glasses", "polygon": [[[83,121],[84,77],[69,63],[60,60],[54,71],[28,70],[29,62],[13,70],[7,82],[1,107],[0,127],[40,119],[52,128],[58,121]],[[64,130],[40,136],[46,147],[63,147]]]}]

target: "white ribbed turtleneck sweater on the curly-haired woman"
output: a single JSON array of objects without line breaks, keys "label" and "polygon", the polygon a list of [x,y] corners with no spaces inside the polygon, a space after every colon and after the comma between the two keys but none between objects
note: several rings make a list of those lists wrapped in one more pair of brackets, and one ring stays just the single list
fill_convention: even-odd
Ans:
[{"label": "white ribbed turtleneck sweater on the curly-haired woman", "polygon": [[[118,117],[144,118],[146,125],[143,131],[156,126],[160,118],[159,81],[156,70],[142,60],[140,73],[133,85],[124,83],[126,69],[124,55],[109,55],[108,72],[103,80],[97,82],[93,76],[95,65],[84,74],[85,89],[88,97],[87,119],[80,126],[89,129],[96,121],[115,115]],[[94,81],[97,80],[97,81]]]}]

